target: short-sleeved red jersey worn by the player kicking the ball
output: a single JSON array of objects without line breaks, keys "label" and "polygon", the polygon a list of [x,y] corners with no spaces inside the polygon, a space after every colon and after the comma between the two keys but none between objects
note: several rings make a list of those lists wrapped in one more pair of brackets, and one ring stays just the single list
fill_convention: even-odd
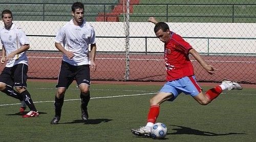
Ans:
[{"label": "short-sleeved red jersey worn by the player kicking the ball", "polygon": [[194,68],[188,57],[190,49],[192,46],[181,36],[173,32],[170,33],[169,41],[164,44],[166,81],[194,75]]}]

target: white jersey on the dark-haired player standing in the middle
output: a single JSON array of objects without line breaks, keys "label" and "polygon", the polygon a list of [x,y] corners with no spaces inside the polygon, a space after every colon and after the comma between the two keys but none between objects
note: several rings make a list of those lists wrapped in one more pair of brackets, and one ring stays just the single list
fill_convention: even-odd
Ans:
[{"label": "white jersey on the dark-haired player standing in the middle", "polygon": [[89,44],[95,43],[95,31],[85,20],[78,26],[72,19],[58,31],[55,42],[63,44],[66,50],[74,52],[72,59],[63,54],[63,61],[74,66],[88,65]]}]

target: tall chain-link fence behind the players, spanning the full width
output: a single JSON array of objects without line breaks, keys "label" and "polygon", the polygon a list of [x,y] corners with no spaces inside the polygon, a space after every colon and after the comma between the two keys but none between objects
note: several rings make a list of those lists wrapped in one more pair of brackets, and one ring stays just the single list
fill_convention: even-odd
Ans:
[{"label": "tall chain-link fence behind the players, spanning the full width", "polygon": [[[56,79],[62,54],[54,46],[55,34],[72,19],[76,1],[1,1],[13,12],[30,39],[29,78]],[[164,81],[164,45],[155,37],[154,16],[167,22],[204,60],[219,69],[208,75],[193,59],[199,81],[232,79],[256,83],[256,1],[80,1],[84,18],[94,26],[97,70],[92,80]],[[1,22],[3,25],[3,22]],[[4,65],[1,66],[1,69]]]}]

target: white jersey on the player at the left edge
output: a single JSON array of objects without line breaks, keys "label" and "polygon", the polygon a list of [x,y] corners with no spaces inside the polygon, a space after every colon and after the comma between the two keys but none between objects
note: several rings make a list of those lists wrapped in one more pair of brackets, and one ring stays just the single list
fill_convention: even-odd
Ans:
[{"label": "white jersey on the player at the left edge", "polygon": [[[5,27],[0,29],[0,39],[1,45],[3,45],[5,48],[6,55],[9,55],[11,52],[17,50],[22,45],[29,44],[29,39],[26,34],[14,23],[8,30],[5,29]],[[28,65],[26,51],[16,54],[13,60],[7,61],[6,67],[13,67],[16,64]]]}]

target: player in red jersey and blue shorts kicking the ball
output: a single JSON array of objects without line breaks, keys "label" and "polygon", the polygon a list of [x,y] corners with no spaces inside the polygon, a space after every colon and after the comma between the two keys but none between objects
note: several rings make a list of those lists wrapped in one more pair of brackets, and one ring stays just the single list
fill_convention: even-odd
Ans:
[{"label": "player in red jersey and blue shorts kicking the ball", "polygon": [[150,137],[151,127],[155,124],[159,115],[160,104],[164,101],[174,101],[181,93],[190,95],[201,105],[207,105],[224,90],[242,90],[242,87],[237,82],[223,80],[219,86],[206,91],[206,93],[202,92],[196,81],[194,68],[188,55],[193,55],[209,74],[214,74],[217,69],[208,65],[201,58],[200,54],[181,36],[170,31],[168,24],[157,22],[154,17],[150,17],[148,21],[156,24],[154,32],[160,41],[164,43],[167,82],[159,93],[150,100],[150,110],[147,115],[146,126],[140,127],[139,129],[132,129],[133,134]]}]

